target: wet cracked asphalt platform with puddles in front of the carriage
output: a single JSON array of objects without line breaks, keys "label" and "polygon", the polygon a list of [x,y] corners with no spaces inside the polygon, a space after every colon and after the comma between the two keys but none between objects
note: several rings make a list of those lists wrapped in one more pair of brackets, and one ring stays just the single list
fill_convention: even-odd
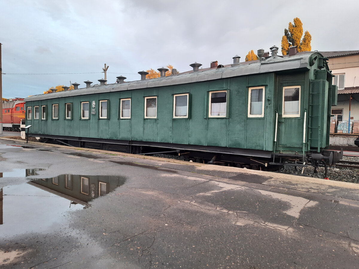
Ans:
[{"label": "wet cracked asphalt platform with puddles in front of the carriage", "polygon": [[4,138],[0,176],[3,268],[358,268],[358,184]]}]

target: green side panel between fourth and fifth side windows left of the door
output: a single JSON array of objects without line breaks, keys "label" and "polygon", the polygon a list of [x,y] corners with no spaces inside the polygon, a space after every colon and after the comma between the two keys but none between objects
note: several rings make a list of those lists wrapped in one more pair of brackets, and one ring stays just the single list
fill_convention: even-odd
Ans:
[{"label": "green side panel between fourth and fifth side windows left of the door", "polygon": [[[131,140],[143,141],[144,90],[133,90],[131,97]],[[122,129],[120,129],[121,136]]]}]

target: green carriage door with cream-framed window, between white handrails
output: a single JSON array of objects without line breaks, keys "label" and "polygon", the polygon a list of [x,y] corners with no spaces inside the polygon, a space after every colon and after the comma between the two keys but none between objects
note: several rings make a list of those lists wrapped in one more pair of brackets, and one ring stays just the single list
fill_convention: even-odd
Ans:
[{"label": "green carriage door with cream-framed window, between white handrails", "polygon": [[280,85],[276,150],[298,151],[301,150],[303,141],[302,90],[304,87],[301,84]]}]

